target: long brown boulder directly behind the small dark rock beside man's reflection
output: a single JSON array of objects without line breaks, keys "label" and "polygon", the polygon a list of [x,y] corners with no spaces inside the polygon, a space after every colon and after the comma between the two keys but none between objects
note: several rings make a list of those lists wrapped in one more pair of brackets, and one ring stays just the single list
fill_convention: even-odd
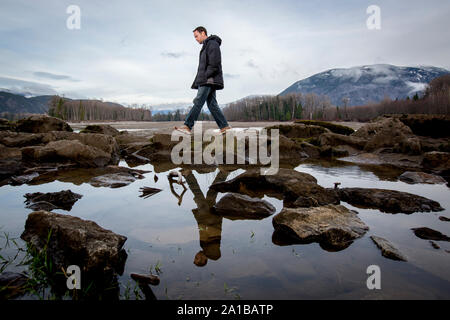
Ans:
[{"label": "long brown boulder directly behind the small dark rock beside man's reflection", "polygon": [[252,168],[234,179],[211,185],[220,192],[238,192],[252,197],[262,197],[264,194],[284,200],[285,206],[317,206],[338,204],[339,198],[333,189],[326,189],[317,184],[310,174],[292,169],[279,168],[274,175],[261,175],[259,168]]}]

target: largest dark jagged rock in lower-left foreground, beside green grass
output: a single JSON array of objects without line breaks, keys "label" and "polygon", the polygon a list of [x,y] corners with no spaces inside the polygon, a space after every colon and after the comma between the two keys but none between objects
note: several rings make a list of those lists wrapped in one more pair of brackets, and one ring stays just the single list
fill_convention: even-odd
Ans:
[{"label": "largest dark jagged rock in lower-left foreground, beside green grass", "polygon": [[49,239],[47,255],[57,270],[78,265],[82,272],[123,273],[127,254],[122,247],[127,238],[103,229],[94,221],[35,211],[28,215],[20,237],[41,252]]}]

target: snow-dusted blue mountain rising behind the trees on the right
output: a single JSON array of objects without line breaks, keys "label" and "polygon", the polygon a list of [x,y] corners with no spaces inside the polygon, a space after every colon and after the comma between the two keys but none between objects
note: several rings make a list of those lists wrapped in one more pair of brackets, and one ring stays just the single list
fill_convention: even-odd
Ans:
[{"label": "snow-dusted blue mountain rising behind the trees on the right", "polygon": [[450,73],[437,67],[398,67],[374,64],[348,69],[331,69],[295,82],[280,95],[293,92],[327,95],[334,105],[365,105],[379,102],[386,96],[391,99],[412,97],[422,93],[436,77]]}]

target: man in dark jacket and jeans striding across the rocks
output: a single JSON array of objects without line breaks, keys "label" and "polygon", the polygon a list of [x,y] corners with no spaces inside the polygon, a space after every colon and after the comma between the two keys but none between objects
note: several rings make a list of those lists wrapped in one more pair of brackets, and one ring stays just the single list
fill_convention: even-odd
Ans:
[{"label": "man in dark jacket and jeans striding across the rocks", "polygon": [[208,37],[204,27],[197,27],[193,32],[195,40],[203,44],[200,50],[197,75],[191,86],[192,89],[198,89],[198,91],[197,96],[193,100],[194,105],[184,121],[184,126],[175,127],[175,129],[190,134],[194,122],[197,120],[206,102],[209,111],[220,128],[220,133],[223,134],[231,127],[228,125],[216,100],[216,90],[223,89],[222,58],[220,54],[222,39],[216,35]]}]

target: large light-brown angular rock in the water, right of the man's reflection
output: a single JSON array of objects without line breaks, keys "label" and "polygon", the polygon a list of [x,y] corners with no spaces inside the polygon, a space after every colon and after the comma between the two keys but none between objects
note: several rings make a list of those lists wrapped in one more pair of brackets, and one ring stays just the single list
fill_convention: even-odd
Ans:
[{"label": "large light-brown angular rock in the water, right of the man's reflection", "polygon": [[283,208],[273,217],[272,224],[276,232],[291,238],[292,243],[318,242],[329,251],[347,248],[369,230],[354,211],[341,205]]}]

